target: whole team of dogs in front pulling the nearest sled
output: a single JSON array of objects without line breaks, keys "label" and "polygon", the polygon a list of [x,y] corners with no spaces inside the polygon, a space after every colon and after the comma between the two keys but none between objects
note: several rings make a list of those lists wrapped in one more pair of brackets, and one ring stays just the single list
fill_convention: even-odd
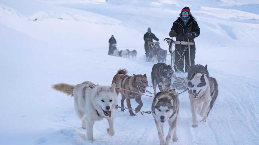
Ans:
[{"label": "whole team of dogs in front pulling the nearest sled", "polygon": [[[155,92],[151,112],[155,120],[160,145],[169,145],[171,140],[174,142],[178,140],[176,128],[180,101],[176,90],[169,88],[173,73],[172,67],[165,63],[153,65],[151,71],[151,80]],[[160,90],[158,93],[156,93],[157,85]],[[76,86],[60,83],[52,85],[52,88],[74,97],[75,112],[82,121],[82,128],[86,129],[87,139],[93,141],[93,125],[97,120],[106,118],[109,124],[107,133],[110,136],[115,134],[114,108],[117,105],[118,94],[121,93],[122,96],[122,107],[124,106],[124,100],[126,100],[127,107],[132,108],[131,99],[135,99],[139,104],[135,108],[135,113],[138,113],[143,106],[141,95],[145,93],[147,86],[146,74],[128,76],[126,69],[119,69],[112,80],[111,86],[100,86],[87,81]],[[216,79],[209,76],[207,65],[192,65],[187,77],[187,86],[192,113],[192,127],[197,127],[197,114],[203,117],[202,121],[206,121],[217,99],[218,85]],[[121,111],[124,111],[124,108]],[[136,116],[132,110],[129,110],[129,113],[131,116]],[[165,121],[168,121],[170,128],[164,139],[163,123]]]}]

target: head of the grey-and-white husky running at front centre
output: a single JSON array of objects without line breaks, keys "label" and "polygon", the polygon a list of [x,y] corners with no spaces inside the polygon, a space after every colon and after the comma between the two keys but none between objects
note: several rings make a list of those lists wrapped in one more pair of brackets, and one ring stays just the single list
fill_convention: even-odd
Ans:
[{"label": "head of the grey-and-white husky running at front centre", "polygon": [[157,121],[164,123],[168,120],[177,109],[176,100],[172,96],[176,96],[175,90],[163,90],[156,94],[154,117]]}]

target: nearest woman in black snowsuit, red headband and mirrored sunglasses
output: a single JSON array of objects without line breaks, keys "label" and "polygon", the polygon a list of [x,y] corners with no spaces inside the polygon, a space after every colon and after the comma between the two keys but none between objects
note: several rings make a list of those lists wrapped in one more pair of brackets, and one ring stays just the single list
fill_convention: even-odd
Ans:
[{"label": "nearest woman in black snowsuit, red headband and mirrored sunglasses", "polygon": [[[190,13],[189,7],[184,7],[180,13],[180,17],[174,21],[171,31],[169,32],[170,37],[176,37],[176,41],[186,41],[194,43],[194,38],[200,35],[200,28],[195,18]],[[184,71],[184,59],[185,59],[185,72],[188,72],[191,65],[194,65],[195,59],[195,43],[190,45],[190,59],[191,65],[189,64],[189,52],[188,45],[176,44],[175,45],[175,71],[177,69]],[[177,67],[177,69],[176,69]]]}]

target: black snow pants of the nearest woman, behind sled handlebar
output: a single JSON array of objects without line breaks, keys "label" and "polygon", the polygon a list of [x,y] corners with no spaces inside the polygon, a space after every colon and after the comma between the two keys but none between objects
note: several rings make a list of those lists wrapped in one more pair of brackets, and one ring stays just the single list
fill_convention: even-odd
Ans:
[{"label": "black snow pants of the nearest woman, behind sled handlebar", "polygon": [[[186,50],[185,50],[186,49]],[[185,50],[185,52],[184,52]],[[185,60],[185,72],[188,72],[191,65],[194,65],[194,59],[195,59],[195,44],[190,45],[190,57],[191,57],[191,65],[189,64],[189,50],[188,45],[175,45],[175,55],[174,64],[177,66],[177,69],[180,71],[184,71],[184,60]],[[174,66],[175,71],[177,72],[176,66]]]}]

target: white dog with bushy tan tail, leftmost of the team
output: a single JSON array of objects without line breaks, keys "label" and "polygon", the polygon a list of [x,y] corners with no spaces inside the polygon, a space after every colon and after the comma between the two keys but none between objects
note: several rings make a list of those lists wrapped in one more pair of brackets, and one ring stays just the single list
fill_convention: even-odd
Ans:
[{"label": "white dog with bushy tan tail, leftmost of the team", "polygon": [[74,107],[77,116],[82,120],[82,127],[86,130],[88,140],[94,140],[93,126],[97,120],[106,118],[109,123],[107,133],[110,136],[114,131],[114,107],[117,104],[115,84],[112,86],[99,86],[92,82],[83,82],[76,86],[69,84],[55,84],[54,90],[74,96]]}]

